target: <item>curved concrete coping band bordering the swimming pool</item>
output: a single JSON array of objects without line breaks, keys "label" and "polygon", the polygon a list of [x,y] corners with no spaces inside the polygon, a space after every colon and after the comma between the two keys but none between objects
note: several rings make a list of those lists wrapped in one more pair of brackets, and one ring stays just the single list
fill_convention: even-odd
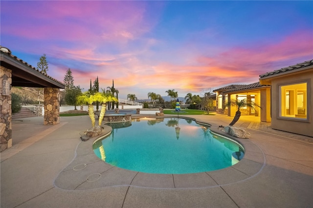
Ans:
[{"label": "curved concrete coping band bordering the swimming pool", "polygon": [[[132,118],[170,118],[173,116],[132,115]],[[194,118],[200,124],[210,125]],[[80,142],[73,160],[58,174],[54,181],[56,187],[66,190],[87,190],[101,187],[144,187],[144,188],[208,188],[240,183],[257,176],[266,164],[262,149],[249,139],[231,137],[218,127],[210,125],[210,130],[218,135],[239,142],[245,148],[244,158],[237,164],[219,170],[190,174],[151,174],[112,166],[98,158],[92,144],[110,134],[112,128],[104,125],[103,134],[86,142]]]}]

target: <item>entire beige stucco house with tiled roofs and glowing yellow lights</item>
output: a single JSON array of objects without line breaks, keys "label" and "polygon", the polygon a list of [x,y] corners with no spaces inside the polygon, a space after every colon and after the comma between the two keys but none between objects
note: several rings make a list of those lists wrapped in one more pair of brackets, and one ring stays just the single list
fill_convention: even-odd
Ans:
[{"label": "entire beige stucco house with tiled roofs and glowing yellow lights", "polygon": [[313,137],[313,60],[260,75],[259,82],[231,84],[213,90],[216,113],[235,116],[230,100],[247,99],[261,106],[246,107],[242,115],[259,116],[273,129]]}]

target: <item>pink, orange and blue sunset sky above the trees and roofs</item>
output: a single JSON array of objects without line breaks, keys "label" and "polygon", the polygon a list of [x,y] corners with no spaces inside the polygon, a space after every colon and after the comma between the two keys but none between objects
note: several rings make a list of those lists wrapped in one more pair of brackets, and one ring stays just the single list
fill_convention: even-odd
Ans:
[{"label": "pink, orange and blue sunset sky above the trees and roofs", "polygon": [[0,44],[84,91],[99,77],[119,98],[258,82],[313,59],[313,1],[0,1]]}]

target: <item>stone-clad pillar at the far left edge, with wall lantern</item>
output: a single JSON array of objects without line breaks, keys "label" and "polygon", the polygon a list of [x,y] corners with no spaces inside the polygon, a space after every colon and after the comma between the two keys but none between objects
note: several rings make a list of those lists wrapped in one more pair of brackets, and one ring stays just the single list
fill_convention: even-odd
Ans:
[{"label": "stone-clad pillar at the far left edge, with wall lantern", "polygon": [[12,146],[11,84],[12,70],[0,66],[0,151]]}]

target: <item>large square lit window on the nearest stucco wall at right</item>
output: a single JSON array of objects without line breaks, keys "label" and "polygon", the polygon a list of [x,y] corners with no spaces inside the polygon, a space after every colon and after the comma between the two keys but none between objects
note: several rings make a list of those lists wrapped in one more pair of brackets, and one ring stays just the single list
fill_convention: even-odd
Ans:
[{"label": "large square lit window on the nearest stucco wall at right", "polygon": [[280,116],[307,119],[307,83],[280,86]]}]

